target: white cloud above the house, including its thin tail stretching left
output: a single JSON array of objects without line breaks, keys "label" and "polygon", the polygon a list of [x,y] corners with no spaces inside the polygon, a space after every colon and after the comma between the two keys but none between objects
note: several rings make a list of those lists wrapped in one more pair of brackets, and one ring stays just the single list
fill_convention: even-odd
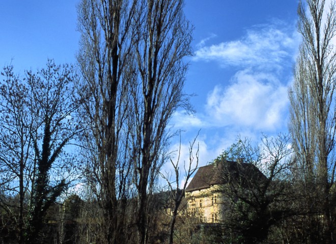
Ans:
[{"label": "white cloud above the house, including its thin tail stretching left", "polygon": [[287,82],[271,73],[238,71],[229,85],[218,84],[209,92],[203,112],[188,115],[177,111],[172,124],[186,131],[231,127],[235,136],[242,130],[277,131],[287,124],[291,80]]}]

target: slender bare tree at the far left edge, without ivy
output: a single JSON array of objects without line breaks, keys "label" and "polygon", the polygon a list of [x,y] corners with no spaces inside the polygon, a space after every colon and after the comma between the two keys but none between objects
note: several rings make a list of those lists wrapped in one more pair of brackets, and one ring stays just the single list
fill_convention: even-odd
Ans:
[{"label": "slender bare tree at the far left edge, without ivy", "polygon": [[36,118],[32,116],[31,94],[29,87],[15,75],[13,67],[5,67],[5,77],[0,87],[1,96],[1,130],[0,130],[0,170],[2,192],[6,198],[19,196],[17,211],[10,207],[6,199],[1,198],[0,206],[17,220],[19,243],[23,243],[24,234],[24,197],[29,191],[32,177],[33,142],[31,133],[36,126]]}]

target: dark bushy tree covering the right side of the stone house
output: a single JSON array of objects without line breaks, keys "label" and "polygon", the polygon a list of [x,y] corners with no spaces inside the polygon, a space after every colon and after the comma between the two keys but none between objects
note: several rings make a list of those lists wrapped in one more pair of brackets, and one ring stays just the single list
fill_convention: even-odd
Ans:
[{"label": "dark bushy tree covering the right side of the stone house", "polygon": [[221,192],[227,203],[221,214],[226,241],[284,241],[277,234],[272,240],[274,229],[279,230],[279,223],[299,214],[292,205],[293,149],[289,143],[290,136],[283,134],[275,138],[264,135],[257,145],[239,137],[215,160],[223,164],[221,178],[225,184]]}]

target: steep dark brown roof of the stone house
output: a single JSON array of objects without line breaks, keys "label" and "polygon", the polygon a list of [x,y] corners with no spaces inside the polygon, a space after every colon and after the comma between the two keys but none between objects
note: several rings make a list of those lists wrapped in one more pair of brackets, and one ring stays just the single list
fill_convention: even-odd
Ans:
[{"label": "steep dark brown roof of the stone house", "polygon": [[233,178],[244,177],[256,180],[265,179],[266,176],[253,164],[238,163],[221,160],[213,164],[200,167],[185,189],[186,192],[210,188],[212,185],[222,185],[228,182],[228,176]]}]

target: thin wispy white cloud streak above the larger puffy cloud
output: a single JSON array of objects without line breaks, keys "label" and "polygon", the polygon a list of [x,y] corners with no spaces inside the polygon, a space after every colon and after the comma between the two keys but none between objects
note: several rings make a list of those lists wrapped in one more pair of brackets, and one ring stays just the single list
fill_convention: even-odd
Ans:
[{"label": "thin wispy white cloud streak above the larger puffy cloud", "polygon": [[285,27],[277,22],[254,26],[242,38],[211,46],[200,46],[194,61],[215,60],[222,66],[281,68],[296,52],[299,36],[295,26]]}]

